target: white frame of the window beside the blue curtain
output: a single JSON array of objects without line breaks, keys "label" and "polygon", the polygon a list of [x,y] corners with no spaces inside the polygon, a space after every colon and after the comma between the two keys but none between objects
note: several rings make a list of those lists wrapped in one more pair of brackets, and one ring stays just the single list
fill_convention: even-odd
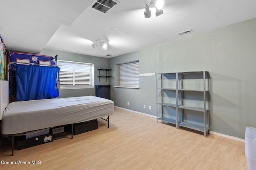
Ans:
[{"label": "white frame of the window beside the blue curtain", "polygon": [[[90,85],[61,85],[61,78],[60,78],[60,90],[64,90],[64,89],[85,89],[85,88],[94,88],[94,64],[93,63],[82,63],[82,62],[76,62],[76,61],[65,61],[65,60],[58,60],[57,61],[57,66],[59,66],[59,63],[71,63],[71,64],[75,64],[73,65],[73,67],[76,66],[76,64],[78,65],[86,65],[86,66],[90,66]],[[61,66],[59,66],[61,69]],[[61,70],[60,70],[61,73]],[[74,83],[74,68],[73,68],[73,83]],[[61,76],[60,76],[61,77]]]}]

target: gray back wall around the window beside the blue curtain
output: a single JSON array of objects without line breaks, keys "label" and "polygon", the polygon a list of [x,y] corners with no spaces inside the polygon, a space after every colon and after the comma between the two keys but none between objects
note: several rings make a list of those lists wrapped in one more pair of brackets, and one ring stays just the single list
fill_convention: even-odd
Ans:
[{"label": "gray back wall around the window beside the blue curtain", "polygon": [[[75,53],[68,53],[64,51],[55,51],[49,49],[43,49],[40,52],[41,55],[50,55],[55,56],[58,55],[58,60],[65,61],[76,61],[83,63],[92,63],[94,64],[94,84],[108,84],[108,80],[106,78],[99,78],[97,75],[99,74],[99,70],[97,68],[108,68],[108,59],[103,57],[93,57],[88,55],[81,55]],[[76,96],[95,96],[95,88],[85,88],[85,89],[68,89],[68,90],[60,90],[60,98],[66,97],[76,97]]]}]

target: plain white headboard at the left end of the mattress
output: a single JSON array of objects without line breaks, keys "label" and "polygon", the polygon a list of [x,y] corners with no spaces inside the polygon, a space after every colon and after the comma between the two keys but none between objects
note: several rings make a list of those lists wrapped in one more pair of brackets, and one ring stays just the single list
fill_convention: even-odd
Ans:
[{"label": "plain white headboard at the left end of the mattress", "polygon": [[0,120],[2,120],[5,107],[9,104],[9,82],[0,80]]}]

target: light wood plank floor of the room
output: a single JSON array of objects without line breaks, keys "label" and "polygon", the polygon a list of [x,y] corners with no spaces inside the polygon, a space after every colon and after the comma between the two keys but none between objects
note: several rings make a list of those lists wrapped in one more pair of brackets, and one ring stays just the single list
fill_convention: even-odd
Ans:
[{"label": "light wood plank floor of the room", "polygon": [[[71,137],[71,135],[68,135]],[[110,128],[98,119],[98,129],[74,139],[14,150],[4,139],[0,161],[22,160],[25,165],[3,165],[0,169],[85,170],[245,170],[244,143],[179,129],[156,119],[115,108]],[[31,161],[41,164],[31,164]],[[1,163],[1,162],[0,162]]]}]

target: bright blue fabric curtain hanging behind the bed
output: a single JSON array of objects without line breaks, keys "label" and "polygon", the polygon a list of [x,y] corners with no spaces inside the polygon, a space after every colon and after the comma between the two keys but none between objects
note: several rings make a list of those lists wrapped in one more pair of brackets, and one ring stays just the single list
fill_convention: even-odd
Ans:
[{"label": "bright blue fabric curtain hanging behind the bed", "polygon": [[16,69],[16,101],[50,99],[59,96],[58,66],[17,64]]}]

